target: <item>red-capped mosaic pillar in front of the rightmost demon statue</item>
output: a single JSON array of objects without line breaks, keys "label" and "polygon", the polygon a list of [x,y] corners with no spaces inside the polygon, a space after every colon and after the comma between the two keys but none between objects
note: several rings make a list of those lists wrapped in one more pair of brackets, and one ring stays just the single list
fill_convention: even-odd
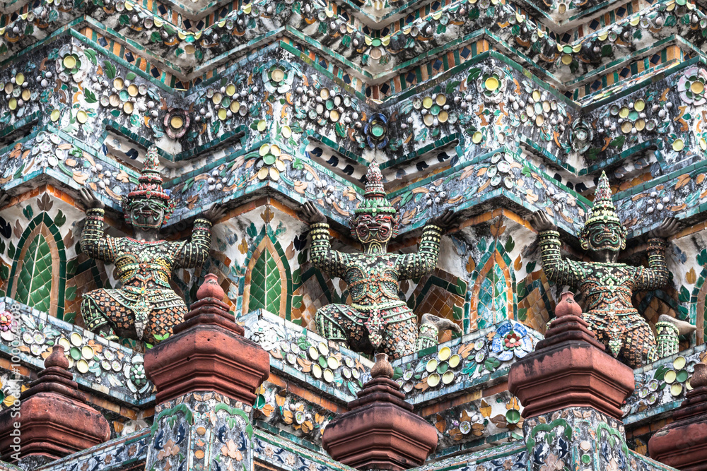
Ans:
[{"label": "red-capped mosaic pillar in front of the rightmost demon statue", "polygon": [[633,370],[604,352],[571,294],[563,296],[545,339],[508,374],[524,407],[528,469],[628,469],[621,404]]}]

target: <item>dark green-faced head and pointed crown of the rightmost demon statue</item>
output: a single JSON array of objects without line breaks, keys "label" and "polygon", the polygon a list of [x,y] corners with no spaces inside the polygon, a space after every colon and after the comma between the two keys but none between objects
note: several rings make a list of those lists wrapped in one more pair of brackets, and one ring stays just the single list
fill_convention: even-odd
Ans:
[{"label": "dark green-faced head and pointed crown of the rightmost demon statue", "polygon": [[619,251],[626,248],[626,227],[612,201],[612,189],[606,172],[597,184],[592,210],[580,232],[580,242],[585,250]]}]

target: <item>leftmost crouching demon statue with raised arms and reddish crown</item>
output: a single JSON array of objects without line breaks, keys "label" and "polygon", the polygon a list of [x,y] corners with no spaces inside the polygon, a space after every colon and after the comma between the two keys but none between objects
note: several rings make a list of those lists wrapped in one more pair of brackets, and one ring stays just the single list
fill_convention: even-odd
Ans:
[{"label": "leftmost crouching demon statue with raised arms and reddish crown", "polygon": [[174,211],[162,188],[157,148],[148,150],[139,184],[122,200],[125,221],[135,237],[103,235],[103,203],[86,188],[86,226],[81,250],[91,258],[115,263],[120,289],[93,290],[83,295],[81,315],[86,326],[110,340],[118,336],[156,343],[172,333],[187,313],[184,300],[170,287],[175,268],[200,266],[209,256],[211,221],[223,215],[216,206],[194,220],[192,239],[159,240],[159,229]]}]

